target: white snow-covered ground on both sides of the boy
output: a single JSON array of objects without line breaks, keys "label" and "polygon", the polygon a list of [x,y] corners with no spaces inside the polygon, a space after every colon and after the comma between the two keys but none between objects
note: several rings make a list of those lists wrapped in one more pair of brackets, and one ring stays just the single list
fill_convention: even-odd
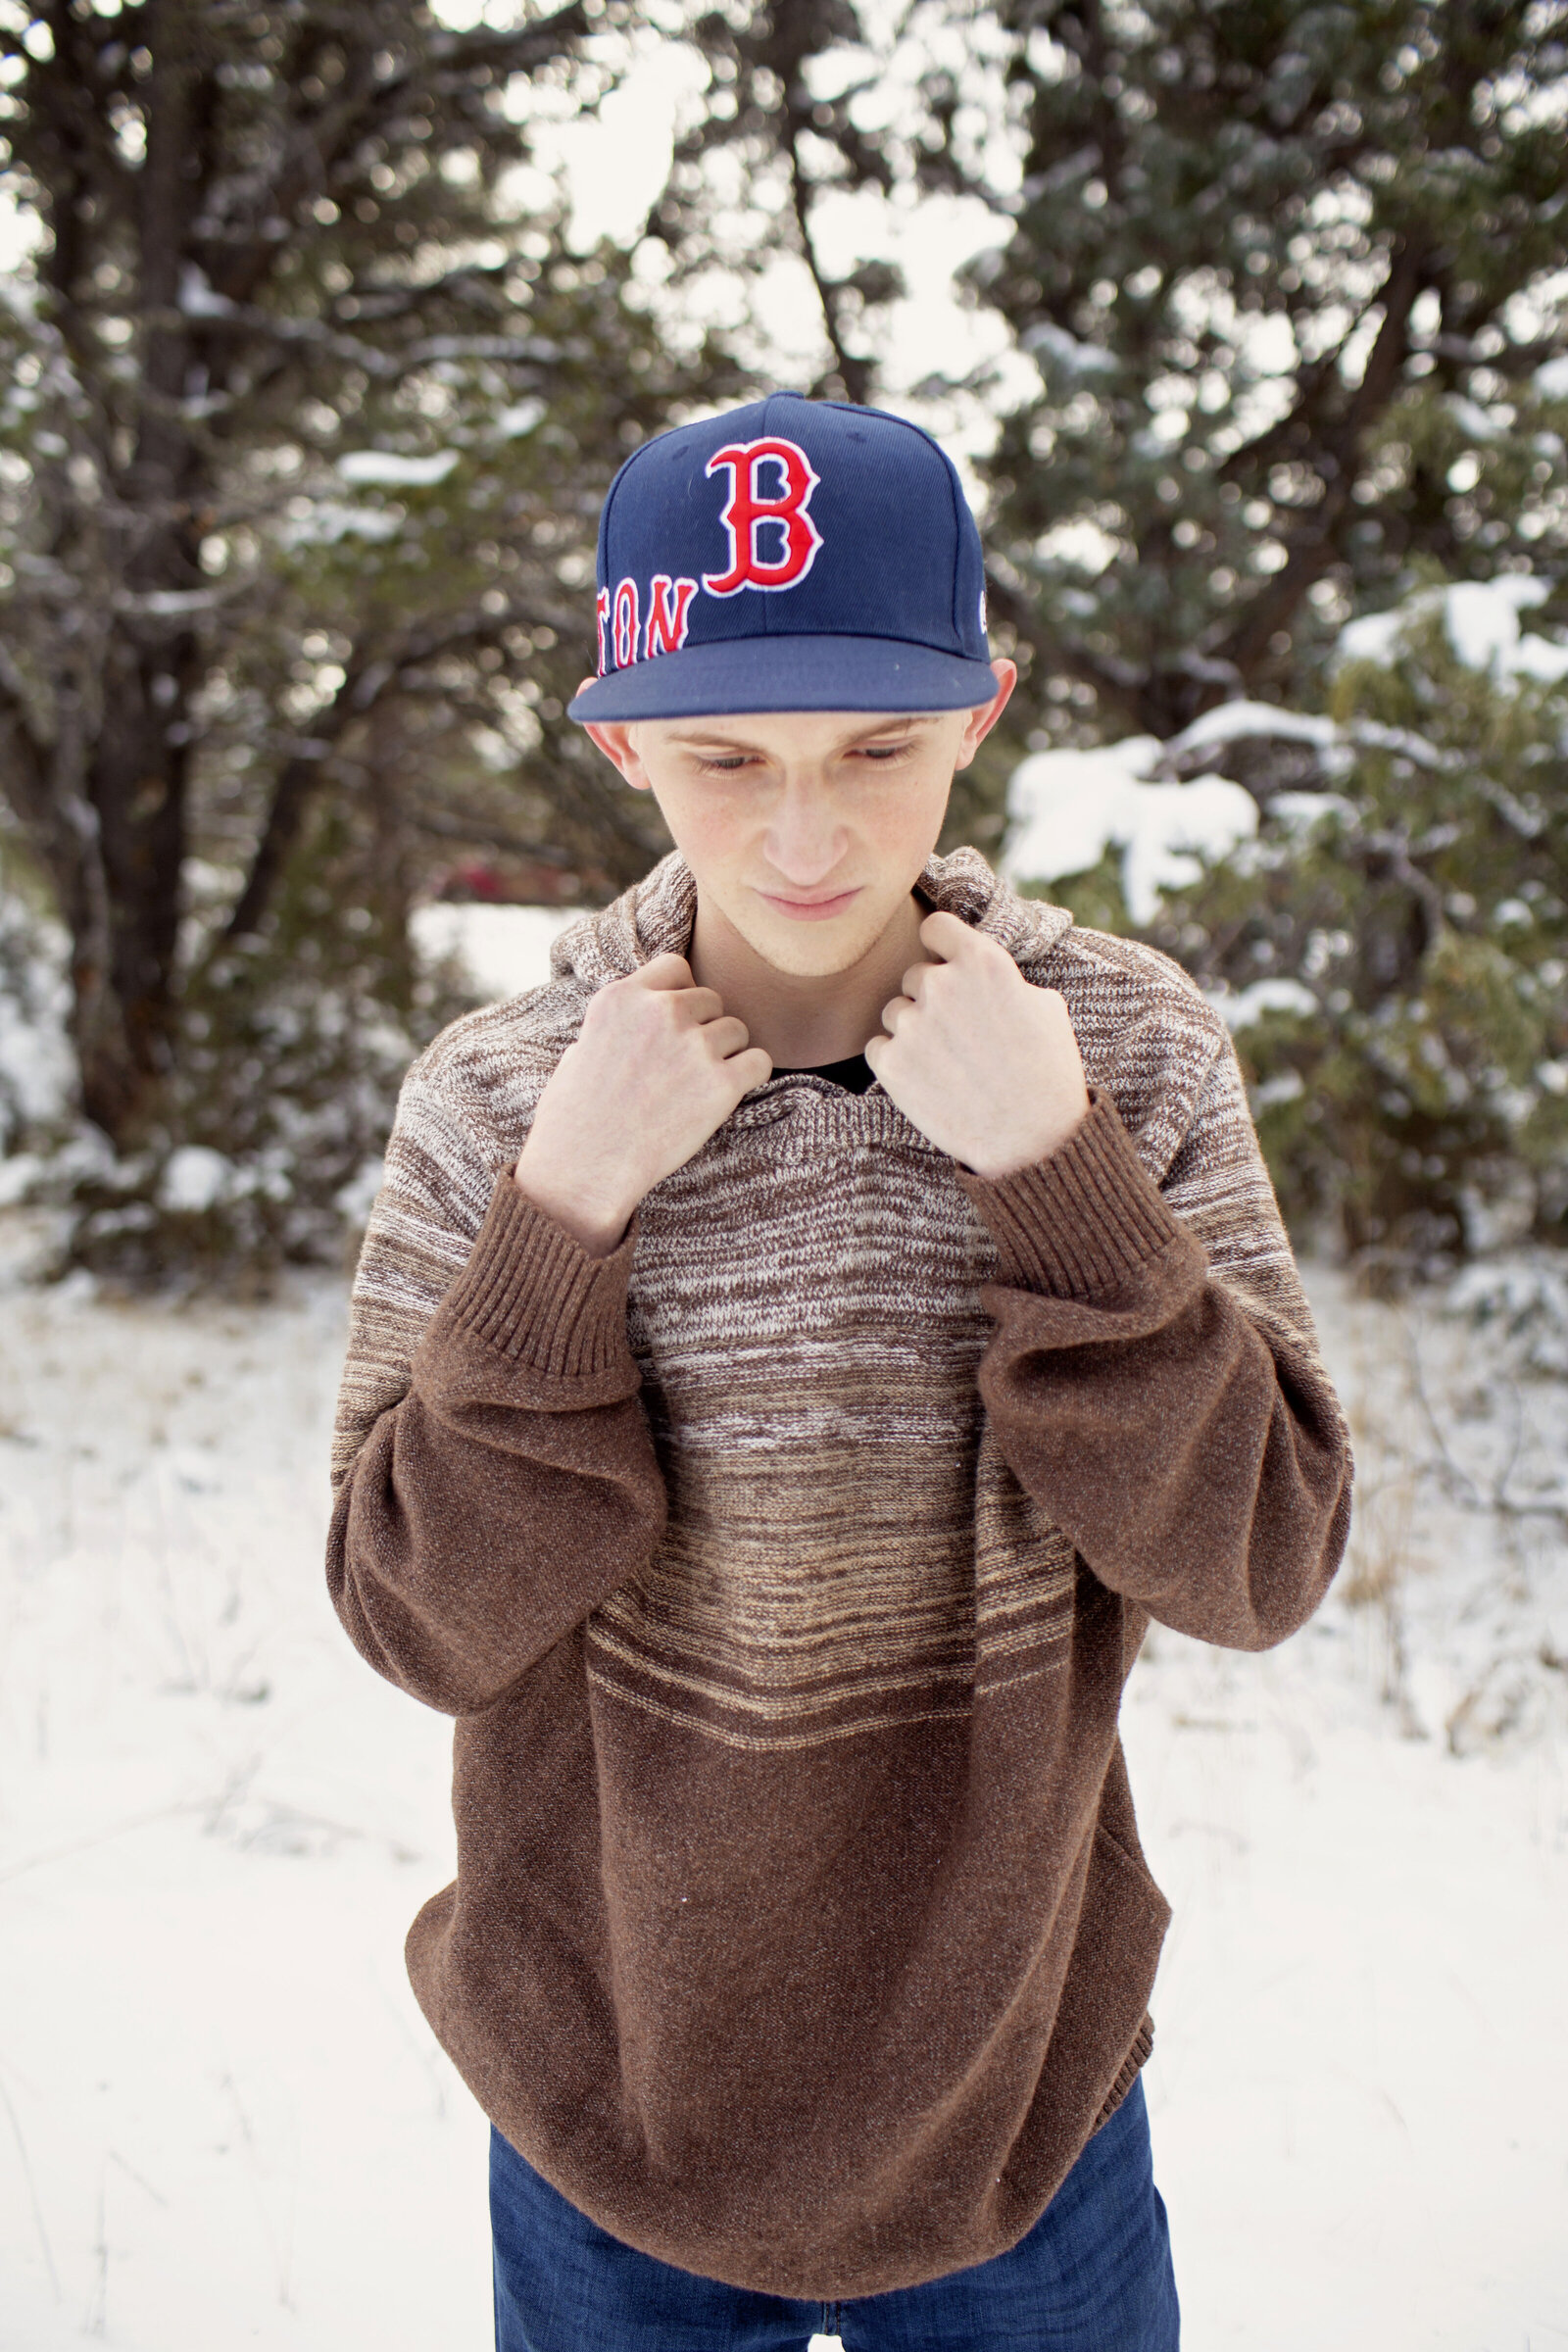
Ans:
[{"label": "white snow-covered ground on both sides of the boy", "polygon": [[[0,1218],[0,2347],[482,2352],[484,2124],[402,1973],[449,1733],[322,1585],[343,1282],[40,1291],[40,1230]],[[1265,1658],[1157,1630],[1124,1710],[1185,2345],[1547,2352],[1568,1383],[1507,1315],[1312,1287],[1354,1555]]]}]

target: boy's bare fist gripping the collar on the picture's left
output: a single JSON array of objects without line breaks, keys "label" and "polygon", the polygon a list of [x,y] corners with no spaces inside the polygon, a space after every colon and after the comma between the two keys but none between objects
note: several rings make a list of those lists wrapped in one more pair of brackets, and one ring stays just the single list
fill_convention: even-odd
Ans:
[{"label": "boy's bare fist gripping the collar on the picture's left", "polygon": [[684,955],[656,955],[588,1004],[557,1061],[517,1160],[517,1185],[595,1258],[632,1209],[684,1167],[773,1063],[748,1044]]}]

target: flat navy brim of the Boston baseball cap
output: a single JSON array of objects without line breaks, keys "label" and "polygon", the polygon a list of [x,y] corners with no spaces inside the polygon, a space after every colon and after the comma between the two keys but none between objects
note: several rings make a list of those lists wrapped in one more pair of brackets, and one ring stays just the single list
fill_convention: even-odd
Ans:
[{"label": "flat navy brim of the Boston baseball cap", "polygon": [[898,637],[726,637],[611,670],[571,720],[696,720],[743,710],[976,710],[997,691],[985,661]]}]

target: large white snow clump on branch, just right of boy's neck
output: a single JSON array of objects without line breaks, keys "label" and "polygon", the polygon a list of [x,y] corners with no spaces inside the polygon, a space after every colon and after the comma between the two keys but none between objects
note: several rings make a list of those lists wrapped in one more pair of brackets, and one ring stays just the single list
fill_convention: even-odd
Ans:
[{"label": "large white snow clump on branch, just right of boy's neck", "polygon": [[1258,830],[1258,802],[1227,776],[1147,783],[1161,750],[1157,736],[1126,736],[1020,760],[1009,783],[1009,880],[1056,882],[1117,844],[1128,915],[1150,922],[1161,891],[1197,882],[1199,856],[1220,858]]}]

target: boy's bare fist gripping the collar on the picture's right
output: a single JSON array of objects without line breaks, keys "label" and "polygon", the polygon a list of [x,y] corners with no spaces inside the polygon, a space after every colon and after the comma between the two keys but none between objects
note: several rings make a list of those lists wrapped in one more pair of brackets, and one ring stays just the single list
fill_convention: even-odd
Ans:
[{"label": "boy's bare fist gripping the collar on the picture's right", "polygon": [[1032,988],[994,938],[926,915],[886,1035],[865,1058],[905,1120],[976,1176],[1011,1176],[1058,1150],[1088,1115],[1067,1004]]}]

